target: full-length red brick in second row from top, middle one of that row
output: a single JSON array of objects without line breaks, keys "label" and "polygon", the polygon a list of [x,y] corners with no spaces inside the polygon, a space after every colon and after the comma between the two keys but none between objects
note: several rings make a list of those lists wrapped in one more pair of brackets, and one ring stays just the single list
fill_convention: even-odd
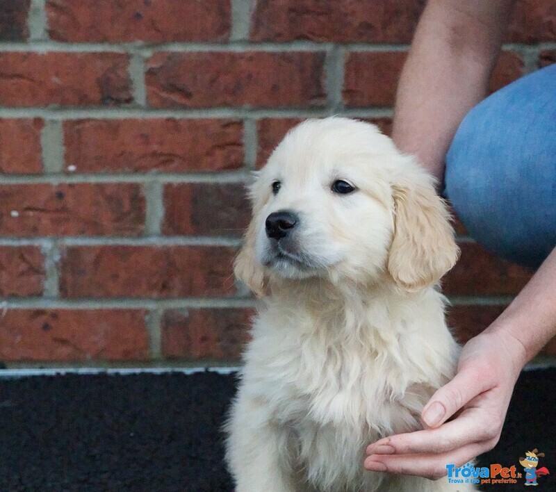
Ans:
[{"label": "full-length red brick in second row from top, middle one of that row", "polygon": [[156,108],[324,106],[322,52],[156,53],[147,99]]}]

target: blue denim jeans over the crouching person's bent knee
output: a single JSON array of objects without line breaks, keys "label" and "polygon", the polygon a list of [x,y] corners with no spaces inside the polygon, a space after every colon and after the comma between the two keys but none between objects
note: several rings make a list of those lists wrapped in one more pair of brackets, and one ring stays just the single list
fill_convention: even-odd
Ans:
[{"label": "blue denim jeans over the crouching person's bent knee", "polygon": [[556,65],[477,104],[446,156],[445,195],[471,237],[537,268],[556,246]]}]

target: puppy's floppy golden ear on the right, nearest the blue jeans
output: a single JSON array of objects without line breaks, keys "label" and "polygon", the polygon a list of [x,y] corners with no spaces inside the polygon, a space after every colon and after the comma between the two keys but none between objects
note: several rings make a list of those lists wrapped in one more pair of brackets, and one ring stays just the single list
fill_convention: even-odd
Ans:
[{"label": "puppy's floppy golden ear on the right, nearest the blue jeans", "polygon": [[388,270],[398,286],[414,292],[448,272],[459,248],[448,207],[425,171],[413,169],[395,183],[393,200],[395,224]]}]

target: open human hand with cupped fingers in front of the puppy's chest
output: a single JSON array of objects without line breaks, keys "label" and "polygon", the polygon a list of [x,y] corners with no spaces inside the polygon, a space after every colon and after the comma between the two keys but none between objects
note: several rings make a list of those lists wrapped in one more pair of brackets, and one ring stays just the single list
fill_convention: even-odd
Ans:
[{"label": "open human hand with cupped fingers in front of the puppy's chest", "polygon": [[475,336],[461,351],[457,375],[425,405],[425,429],[369,445],[365,468],[439,479],[447,464],[462,466],[491,450],[525,362],[525,349],[515,338],[496,331]]}]

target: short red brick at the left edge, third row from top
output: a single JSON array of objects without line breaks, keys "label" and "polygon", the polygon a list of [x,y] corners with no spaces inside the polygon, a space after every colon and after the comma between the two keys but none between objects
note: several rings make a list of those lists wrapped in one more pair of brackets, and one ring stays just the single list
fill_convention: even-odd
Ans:
[{"label": "short red brick at the left edge, third row from top", "polygon": [[39,174],[42,172],[40,118],[0,120],[0,173]]}]

